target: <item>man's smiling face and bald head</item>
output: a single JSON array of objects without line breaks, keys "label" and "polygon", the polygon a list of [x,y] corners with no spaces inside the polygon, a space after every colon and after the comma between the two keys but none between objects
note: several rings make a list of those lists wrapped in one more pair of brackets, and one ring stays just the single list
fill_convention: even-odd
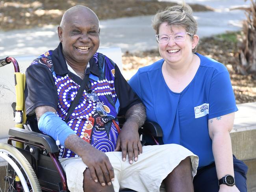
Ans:
[{"label": "man's smiling face and bald head", "polygon": [[69,13],[58,35],[66,60],[73,65],[87,64],[100,45],[98,18],[89,9]]}]

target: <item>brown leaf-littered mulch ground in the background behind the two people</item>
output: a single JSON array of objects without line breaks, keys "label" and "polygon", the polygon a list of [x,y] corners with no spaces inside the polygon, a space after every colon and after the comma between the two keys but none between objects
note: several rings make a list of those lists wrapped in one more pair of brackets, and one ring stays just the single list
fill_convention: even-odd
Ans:
[{"label": "brown leaf-littered mulch ground in the background behind the two people", "polygon": [[[154,15],[159,9],[173,5],[157,0],[0,0],[0,30],[27,29],[45,25],[58,25],[64,11],[75,5],[91,8],[100,20],[109,18]],[[211,7],[191,5],[193,11],[209,11]],[[256,80],[237,73],[238,48],[232,41],[217,37],[200,40],[197,51],[224,65],[230,72],[237,103],[256,102]],[[124,73],[135,72],[141,66],[161,59],[158,50],[124,53]]]}]

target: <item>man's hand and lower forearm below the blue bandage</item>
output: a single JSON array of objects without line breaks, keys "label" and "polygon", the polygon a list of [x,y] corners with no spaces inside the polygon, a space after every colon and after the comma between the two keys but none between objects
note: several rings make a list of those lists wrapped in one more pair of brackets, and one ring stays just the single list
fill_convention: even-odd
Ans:
[{"label": "man's hand and lower forearm below the blue bandage", "polygon": [[82,158],[82,161],[88,166],[91,177],[96,183],[99,181],[102,186],[105,186],[106,183],[111,185],[111,181],[114,181],[115,174],[105,153],[97,150],[77,135],[69,135],[65,140],[65,146]]}]

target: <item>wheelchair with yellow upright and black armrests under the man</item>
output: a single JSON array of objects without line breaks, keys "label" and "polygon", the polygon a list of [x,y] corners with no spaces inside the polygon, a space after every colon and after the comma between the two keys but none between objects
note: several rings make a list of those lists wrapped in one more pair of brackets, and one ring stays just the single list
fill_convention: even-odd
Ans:
[{"label": "wheelchair with yellow upright and black armrests under the man", "polygon": [[[0,162],[4,164],[0,192],[68,192],[65,172],[58,160],[58,146],[52,137],[40,133],[35,116],[26,117],[26,77],[20,73],[16,59],[0,59],[0,67],[9,63],[13,63],[15,70],[16,105],[13,103],[12,107],[16,125],[9,129],[7,143],[0,143]],[[119,118],[120,126],[124,121]],[[161,127],[154,122],[145,122],[139,134],[145,145],[159,144],[163,135]]]}]

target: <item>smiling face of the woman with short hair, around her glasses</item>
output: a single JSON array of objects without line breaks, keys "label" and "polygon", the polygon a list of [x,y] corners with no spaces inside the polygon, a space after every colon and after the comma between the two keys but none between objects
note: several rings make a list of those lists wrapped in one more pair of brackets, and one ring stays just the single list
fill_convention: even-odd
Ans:
[{"label": "smiling face of the woman with short hair, around her glasses", "polygon": [[192,49],[197,45],[198,36],[194,35],[192,40],[184,27],[170,26],[167,22],[163,22],[159,27],[159,34],[174,35],[180,32],[185,33],[185,41],[178,42],[179,37],[178,41],[174,41],[173,37],[170,37],[168,42],[158,43],[160,55],[169,65],[185,64],[189,56],[193,55]]}]

